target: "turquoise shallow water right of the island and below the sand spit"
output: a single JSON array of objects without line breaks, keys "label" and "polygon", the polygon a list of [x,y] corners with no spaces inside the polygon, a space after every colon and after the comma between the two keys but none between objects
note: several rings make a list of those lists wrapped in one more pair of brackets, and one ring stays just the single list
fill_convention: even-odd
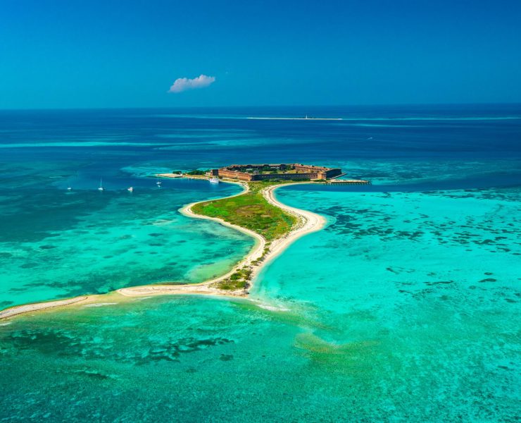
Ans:
[{"label": "turquoise shallow water right of the island and below the sand spit", "polygon": [[328,226],[253,301],[108,298],[4,321],[0,418],[515,421],[519,189],[278,196]]}]

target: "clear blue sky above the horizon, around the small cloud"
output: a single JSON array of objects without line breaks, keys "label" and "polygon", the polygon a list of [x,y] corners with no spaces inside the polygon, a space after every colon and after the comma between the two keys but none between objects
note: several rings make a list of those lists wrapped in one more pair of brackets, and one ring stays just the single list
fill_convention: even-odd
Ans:
[{"label": "clear blue sky above the horizon, around the small cloud", "polygon": [[520,0],[0,4],[2,109],[521,102]]}]

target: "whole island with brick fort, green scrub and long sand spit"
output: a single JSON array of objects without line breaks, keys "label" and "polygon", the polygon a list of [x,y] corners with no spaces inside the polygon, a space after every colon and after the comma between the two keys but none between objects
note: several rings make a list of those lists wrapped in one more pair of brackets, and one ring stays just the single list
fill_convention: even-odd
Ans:
[{"label": "whole island with brick fort, green scrub and long sand spit", "polygon": [[83,295],[81,297],[19,305],[4,309],[0,319],[26,312],[63,307],[65,305],[102,302],[107,296],[118,300],[118,295],[141,297],[148,295],[225,295],[246,297],[249,288],[263,266],[277,257],[303,235],[319,231],[325,219],[313,212],[282,204],[275,198],[275,190],[297,183],[368,184],[368,180],[339,180],[344,176],[340,168],[307,164],[233,164],[207,171],[172,171],[161,173],[163,178],[196,178],[211,182],[236,183],[244,190],[230,197],[187,204],[180,213],[194,219],[218,221],[246,233],[256,240],[248,255],[232,270],[202,283],[161,283],[120,288],[112,293]]}]

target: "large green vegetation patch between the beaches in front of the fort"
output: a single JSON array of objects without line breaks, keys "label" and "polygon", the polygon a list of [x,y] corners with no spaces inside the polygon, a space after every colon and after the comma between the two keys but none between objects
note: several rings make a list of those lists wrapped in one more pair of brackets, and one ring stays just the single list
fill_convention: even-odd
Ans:
[{"label": "large green vegetation patch between the beaches in front of the fort", "polygon": [[274,185],[270,182],[249,183],[249,192],[237,197],[223,198],[195,204],[192,210],[203,216],[218,217],[224,221],[275,240],[291,231],[296,218],[273,206],[263,197],[262,190]]}]

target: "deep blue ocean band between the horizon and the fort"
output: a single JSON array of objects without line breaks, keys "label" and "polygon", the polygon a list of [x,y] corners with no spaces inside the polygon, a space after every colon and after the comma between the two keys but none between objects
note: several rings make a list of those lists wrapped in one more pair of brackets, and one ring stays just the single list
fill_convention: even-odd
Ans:
[{"label": "deep blue ocean band between the horizon and the fort", "polygon": [[[246,119],[306,114],[344,120]],[[437,180],[433,188],[521,180],[521,105],[0,111],[0,131],[4,189],[89,188],[100,177],[120,188],[158,168],[244,161],[343,166],[385,183]]]}]

